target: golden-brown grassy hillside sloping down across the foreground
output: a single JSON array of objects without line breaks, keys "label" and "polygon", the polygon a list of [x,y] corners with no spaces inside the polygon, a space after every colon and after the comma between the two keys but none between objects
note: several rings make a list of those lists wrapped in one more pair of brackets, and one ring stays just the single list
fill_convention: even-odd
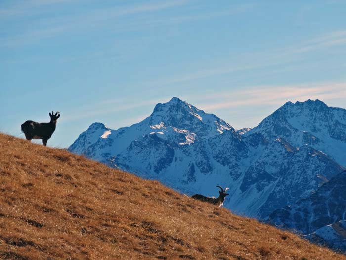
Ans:
[{"label": "golden-brown grassy hillside sloping down across the foreground", "polygon": [[346,260],[157,181],[0,134],[0,259]]}]

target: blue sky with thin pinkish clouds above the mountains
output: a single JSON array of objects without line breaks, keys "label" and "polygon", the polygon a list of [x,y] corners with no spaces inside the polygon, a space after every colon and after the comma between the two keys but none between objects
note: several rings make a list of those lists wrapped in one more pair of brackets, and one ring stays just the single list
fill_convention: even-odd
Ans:
[{"label": "blue sky with thin pinkish clouds above the mountains", "polygon": [[1,0],[0,131],[69,146],[176,96],[236,129],[286,101],[346,108],[345,0]]}]

